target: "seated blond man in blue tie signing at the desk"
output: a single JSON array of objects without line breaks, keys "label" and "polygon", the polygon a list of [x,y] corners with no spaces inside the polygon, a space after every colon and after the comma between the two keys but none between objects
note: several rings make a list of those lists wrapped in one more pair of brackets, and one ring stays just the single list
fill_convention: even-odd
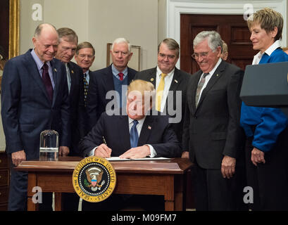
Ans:
[{"label": "seated blond man in blue tie signing at the desk", "polygon": [[[154,85],[150,82],[139,79],[131,82],[127,92],[127,112],[123,110],[122,115],[111,115],[109,111],[102,113],[92,131],[80,142],[84,155],[102,158],[180,157],[180,143],[168,122],[168,116],[151,112],[154,94]],[[94,207],[119,210],[123,202],[131,200],[130,196],[122,197],[111,196],[103,203],[106,207],[100,207],[98,203]],[[115,201],[114,204],[111,201]],[[153,209],[153,205],[149,205]],[[84,202],[83,210],[91,210],[87,206],[93,207],[93,204]]]}]

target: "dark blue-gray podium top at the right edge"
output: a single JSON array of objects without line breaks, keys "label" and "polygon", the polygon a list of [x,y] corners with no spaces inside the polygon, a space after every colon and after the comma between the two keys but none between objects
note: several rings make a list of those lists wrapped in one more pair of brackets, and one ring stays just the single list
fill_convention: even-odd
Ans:
[{"label": "dark blue-gray podium top at the right edge", "polygon": [[281,108],[288,116],[288,62],[247,65],[240,98],[249,106]]}]

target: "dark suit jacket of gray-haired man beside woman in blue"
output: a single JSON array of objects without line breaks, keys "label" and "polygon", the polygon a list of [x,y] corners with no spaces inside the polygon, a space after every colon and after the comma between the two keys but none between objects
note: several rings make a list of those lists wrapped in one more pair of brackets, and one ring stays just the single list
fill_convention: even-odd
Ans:
[{"label": "dark suit jacket of gray-haired man beside woman in blue", "polygon": [[224,155],[239,158],[243,130],[239,127],[239,92],[243,71],[224,60],[202,91],[198,106],[195,94],[202,71],[190,79],[184,117],[183,150],[204,169],[220,169]]}]

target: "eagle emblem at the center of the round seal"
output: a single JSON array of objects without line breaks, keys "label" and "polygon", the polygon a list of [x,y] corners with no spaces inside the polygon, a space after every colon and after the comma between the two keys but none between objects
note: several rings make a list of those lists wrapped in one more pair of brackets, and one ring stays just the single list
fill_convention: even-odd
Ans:
[{"label": "eagle emblem at the center of the round seal", "polygon": [[92,191],[101,190],[101,187],[105,184],[105,181],[101,182],[103,173],[103,170],[99,167],[91,167],[87,169],[87,180],[84,182],[85,186],[91,188]]}]

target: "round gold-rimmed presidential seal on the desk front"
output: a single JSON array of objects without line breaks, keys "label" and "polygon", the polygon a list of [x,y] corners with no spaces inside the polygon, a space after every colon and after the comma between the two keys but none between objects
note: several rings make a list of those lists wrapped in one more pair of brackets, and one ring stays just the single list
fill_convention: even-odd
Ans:
[{"label": "round gold-rimmed presidential seal on the desk front", "polygon": [[80,198],[90,203],[99,203],[113,193],[116,173],[108,160],[91,156],[77,164],[72,180]]}]

